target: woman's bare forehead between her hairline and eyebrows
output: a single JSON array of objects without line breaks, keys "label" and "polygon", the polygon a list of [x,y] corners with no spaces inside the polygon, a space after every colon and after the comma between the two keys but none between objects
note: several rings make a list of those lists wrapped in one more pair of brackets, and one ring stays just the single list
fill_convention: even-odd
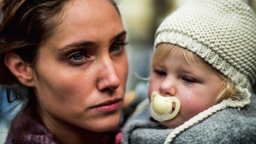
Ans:
[{"label": "woman's bare forehead between her hairline and eyebrows", "polygon": [[63,9],[61,22],[49,38],[56,48],[77,41],[93,41],[100,45],[124,31],[118,11],[108,0],[74,0]]}]

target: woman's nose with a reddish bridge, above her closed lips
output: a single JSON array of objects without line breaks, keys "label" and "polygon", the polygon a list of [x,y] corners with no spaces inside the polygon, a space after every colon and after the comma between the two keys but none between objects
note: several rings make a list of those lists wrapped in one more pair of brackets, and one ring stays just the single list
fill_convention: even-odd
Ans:
[{"label": "woman's nose with a reddish bridge, above her closed lips", "polygon": [[114,63],[110,57],[105,58],[101,62],[102,67],[99,73],[98,89],[104,90],[115,90],[120,85],[120,80],[116,73]]}]

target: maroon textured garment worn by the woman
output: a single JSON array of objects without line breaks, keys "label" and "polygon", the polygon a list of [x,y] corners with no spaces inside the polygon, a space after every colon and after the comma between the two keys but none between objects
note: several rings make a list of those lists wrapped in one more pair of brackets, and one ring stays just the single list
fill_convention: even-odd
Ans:
[{"label": "maroon textured garment worn by the woman", "polygon": [[[100,144],[114,143],[118,132],[102,133]],[[37,113],[26,107],[13,121],[5,144],[60,144],[60,141],[44,126]]]}]

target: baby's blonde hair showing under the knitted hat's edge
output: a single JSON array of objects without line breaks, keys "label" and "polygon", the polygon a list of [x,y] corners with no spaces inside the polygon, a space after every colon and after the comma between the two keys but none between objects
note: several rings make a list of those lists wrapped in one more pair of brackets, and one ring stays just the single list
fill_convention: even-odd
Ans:
[{"label": "baby's blonde hair showing under the knitted hat's edge", "polygon": [[[170,43],[160,43],[153,54],[151,65],[153,66],[161,62],[164,58],[168,56],[168,54],[172,50],[175,50],[177,47],[180,47],[180,46],[170,44]],[[228,99],[228,98],[231,98],[232,100],[238,100],[238,101],[244,98],[243,94],[241,94],[241,92],[236,88],[236,84],[232,80],[228,79],[227,76],[225,76],[219,70],[212,67],[212,65],[206,62],[204,59],[197,56],[192,51],[189,51],[188,49],[184,49],[184,48],[183,48],[183,55],[186,61],[191,66],[193,67],[203,66],[209,69],[210,71],[216,73],[223,80],[221,83],[221,91],[217,96],[216,103],[220,103],[224,99]]]}]

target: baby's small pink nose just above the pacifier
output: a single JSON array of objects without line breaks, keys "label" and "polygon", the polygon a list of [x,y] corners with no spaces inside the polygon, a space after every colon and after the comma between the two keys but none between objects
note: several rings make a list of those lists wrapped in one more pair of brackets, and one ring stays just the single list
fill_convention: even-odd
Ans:
[{"label": "baby's small pink nose just above the pacifier", "polygon": [[163,81],[159,86],[159,91],[164,94],[169,93],[172,96],[176,94],[176,88],[170,80]]}]

